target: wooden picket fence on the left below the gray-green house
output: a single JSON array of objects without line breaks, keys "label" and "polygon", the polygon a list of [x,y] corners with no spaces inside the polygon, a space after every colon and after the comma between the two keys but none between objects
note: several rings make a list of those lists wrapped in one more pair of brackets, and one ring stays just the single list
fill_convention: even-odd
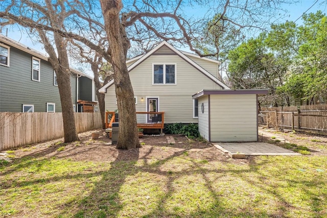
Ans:
[{"label": "wooden picket fence on the left below the gray-green house", "polygon": [[[77,132],[101,128],[100,113],[74,113]],[[0,151],[63,137],[62,113],[0,113]]]}]

